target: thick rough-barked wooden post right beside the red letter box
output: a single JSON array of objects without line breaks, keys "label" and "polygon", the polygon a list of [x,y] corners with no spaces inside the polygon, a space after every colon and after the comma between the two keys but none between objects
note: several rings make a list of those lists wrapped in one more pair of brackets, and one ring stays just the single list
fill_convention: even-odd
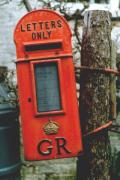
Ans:
[{"label": "thick rough-barked wooden post right beside the red letter box", "polygon": [[109,180],[111,20],[103,10],[87,11],[84,16],[81,49],[80,116],[84,155],[78,160],[78,180]]}]

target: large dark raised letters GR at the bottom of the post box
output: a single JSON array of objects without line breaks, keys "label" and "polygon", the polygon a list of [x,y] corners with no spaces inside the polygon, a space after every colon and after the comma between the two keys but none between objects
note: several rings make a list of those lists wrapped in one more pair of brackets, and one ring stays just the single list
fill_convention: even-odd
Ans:
[{"label": "large dark raised letters GR at the bottom of the post box", "polygon": [[[44,139],[39,142],[37,150],[38,153],[42,156],[48,156],[52,154],[53,151],[53,145],[52,145],[52,140],[50,139]],[[56,154],[61,155],[62,153],[67,153],[70,154],[71,151],[66,147],[67,146],[67,141],[63,137],[57,137],[55,138],[55,144],[56,144]]]}]

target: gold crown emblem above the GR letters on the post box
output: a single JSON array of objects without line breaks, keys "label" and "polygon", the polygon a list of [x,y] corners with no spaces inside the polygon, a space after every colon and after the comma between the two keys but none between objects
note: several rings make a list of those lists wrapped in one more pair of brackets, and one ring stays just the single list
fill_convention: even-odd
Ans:
[{"label": "gold crown emblem above the GR letters on the post box", "polygon": [[49,119],[49,122],[45,124],[43,127],[45,134],[57,134],[59,130],[59,125],[55,122],[53,122],[51,119]]}]

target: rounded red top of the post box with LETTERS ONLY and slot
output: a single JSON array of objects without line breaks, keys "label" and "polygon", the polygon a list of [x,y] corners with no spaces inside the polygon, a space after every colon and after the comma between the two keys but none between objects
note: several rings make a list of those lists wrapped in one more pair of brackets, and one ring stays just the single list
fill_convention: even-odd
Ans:
[{"label": "rounded red top of the post box with LETTERS ONLY and slot", "polygon": [[17,59],[72,55],[71,37],[67,21],[55,11],[31,11],[20,19],[14,31]]}]

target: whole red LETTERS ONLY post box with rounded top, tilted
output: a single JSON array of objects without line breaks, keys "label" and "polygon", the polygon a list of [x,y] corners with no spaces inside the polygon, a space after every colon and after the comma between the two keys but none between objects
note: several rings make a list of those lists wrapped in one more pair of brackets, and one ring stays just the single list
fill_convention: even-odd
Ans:
[{"label": "whole red LETTERS ONLY post box with rounded top, tilted", "polygon": [[82,151],[71,31],[51,10],[26,14],[14,32],[26,160]]}]

